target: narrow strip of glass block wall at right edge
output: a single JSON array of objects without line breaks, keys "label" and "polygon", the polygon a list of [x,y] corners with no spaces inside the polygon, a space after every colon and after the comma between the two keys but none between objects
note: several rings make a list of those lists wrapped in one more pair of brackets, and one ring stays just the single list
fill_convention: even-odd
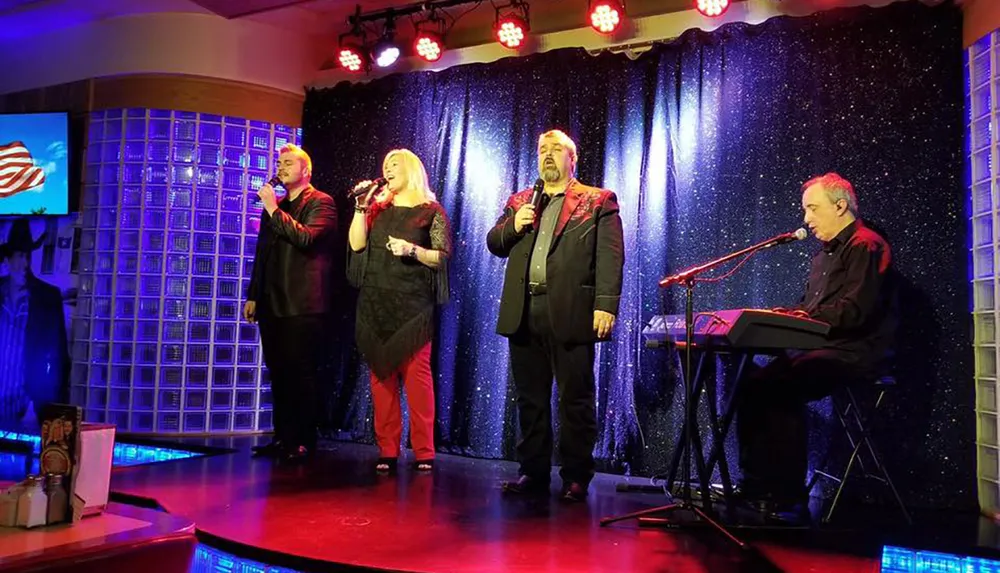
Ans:
[{"label": "narrow strip of glass block wall at right edge", "polygon": [[976,445],[979,504],[1000,508],[1000,441],[997,436],[997,256],[1000,237],[993,230],[1000,217],[998,195],[997,95],[1000,95],[1000,32],[965,54],[966,183],[970,216],[969,278],[972,288],[973,346],[976,375]]}]

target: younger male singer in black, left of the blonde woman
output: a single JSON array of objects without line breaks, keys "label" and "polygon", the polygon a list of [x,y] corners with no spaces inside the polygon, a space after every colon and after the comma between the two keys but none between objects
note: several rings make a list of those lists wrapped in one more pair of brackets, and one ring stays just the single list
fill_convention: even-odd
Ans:
[{"label": "younger male singer in black, left of the blonde woman", "polygon": [[254,454],[299,461],[316,445],[316,379],[331,311],[337,211],[309,183],[312,159],[302,148],[281,148],[278,178],[288,191],[280,202],[270,184],[257,192],[264,212],[243,317],[260,324],[274,407],[274,439]]}]

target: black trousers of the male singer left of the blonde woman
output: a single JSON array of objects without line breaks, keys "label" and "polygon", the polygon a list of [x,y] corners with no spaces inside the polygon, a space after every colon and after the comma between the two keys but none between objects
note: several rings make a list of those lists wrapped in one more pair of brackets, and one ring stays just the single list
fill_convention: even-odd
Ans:
[{"label": "black trousers of the male singer left of the blonde woman", "polygon": [[291,447],[316,446],[316,388],[328,322],[325,315],[260,317],[264,364],[271,377],[274,439]]}]

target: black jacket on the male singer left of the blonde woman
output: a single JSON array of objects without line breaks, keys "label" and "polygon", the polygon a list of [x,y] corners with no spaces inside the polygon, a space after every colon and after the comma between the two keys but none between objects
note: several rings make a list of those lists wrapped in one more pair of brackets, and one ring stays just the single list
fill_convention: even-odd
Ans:
[{"label": "black jacket on the male singer left of the blonde woman", "polygon": [[313,187],[294,202],[282,199],[273,216],[261,214],[247,289],[258,314],[284,318],[331,310],[336,228],[333,199]]}]

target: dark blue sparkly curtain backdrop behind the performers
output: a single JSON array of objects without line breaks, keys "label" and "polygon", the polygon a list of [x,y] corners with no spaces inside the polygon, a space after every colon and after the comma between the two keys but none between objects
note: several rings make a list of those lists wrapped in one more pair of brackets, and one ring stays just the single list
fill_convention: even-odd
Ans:
[{"label": "dark blue sparkly curtain backdrop behind the performers", "polygon": [[[975,504],[975,426],[962,177],[961,15],[916,2],[691,31],[636,59],[567,49],[310,91],[305,148],[338,197],[412,149],[451,217],[452,300],[435,347],[441,451],[513,457],[505,339],[494,334],[504,261],[486,232],[537,176],[538,134],[579,146],[579,178],[618,193],[626,268],[614,339],[598,347],[604,469],[662,470],[680,428],[676,356],[645,349],[649,318],[682,310],[657,280],[801,221],[799,186],[835,170],[885,231],[905,277],[899,392],[883,449],[913,504]],[[798,300],[814,239],[764,252],[698,288],[696,310]],[[354,294],[330,374],[328,425],[371,441]],[[813,410],[817,452],[833,435]],[[824,421],[827,422],[824,424]],[[817,454],[818,455],[818,454]]]}]

